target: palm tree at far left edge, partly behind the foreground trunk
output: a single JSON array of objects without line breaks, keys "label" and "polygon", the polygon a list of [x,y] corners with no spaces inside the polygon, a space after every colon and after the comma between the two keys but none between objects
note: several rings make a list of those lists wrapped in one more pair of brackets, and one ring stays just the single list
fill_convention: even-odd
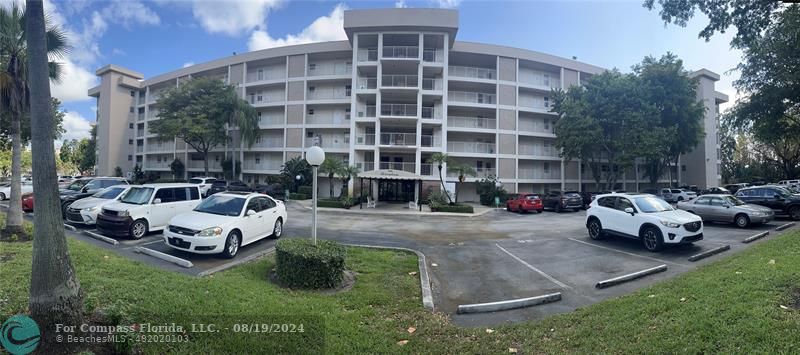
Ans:
[{"label": "palm tree at far left edge, partly behind the foreground trunk", "polygon": [[[28,86],[29,65],[26,52],[25,19],[24,10],[16,3],[10,7],[0,7],[0,66],[2,66],[0,69],[0,111],[11,117],[11,193],[9,196],[11,200],[6,216],[6,228],[2,231],[2,234],[6,236],[23,235],[22,190],[20,187],[22,132],[20,127],[22,119],[27,117],[31,94]],[[48,58],[62,57],[67,51],[64,32],[58,28],[47,26],[44,35]],[[57,81],[61,77],[61,67],[56,62],[47,63],[47,72],[51,80]],[[53,130],[48,132],[53,132]],[[52,134],[50,137],[53,138]]]}]

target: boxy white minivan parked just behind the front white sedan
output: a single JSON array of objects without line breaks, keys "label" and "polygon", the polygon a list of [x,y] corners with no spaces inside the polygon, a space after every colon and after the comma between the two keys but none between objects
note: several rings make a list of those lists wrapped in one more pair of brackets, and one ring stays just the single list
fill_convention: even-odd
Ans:
[{"label": "boxy white minivan parked just behind the front white sedan", "polygon": [[148,232],[163,230],[172,217],[189,212],[198,204],[200,189],[194,184],[131,186],[119,201],[103,206],[97,216],[97,231],[140,239]]}]

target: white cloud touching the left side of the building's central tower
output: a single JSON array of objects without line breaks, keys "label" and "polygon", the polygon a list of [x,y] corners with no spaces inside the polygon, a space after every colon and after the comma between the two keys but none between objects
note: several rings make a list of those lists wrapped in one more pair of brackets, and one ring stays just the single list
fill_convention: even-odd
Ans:
[{"label": "white cloud touching the left side of the building's central tower", "polygon": [[308,27],[298,34],[289,34],[284,38],[273,38],[263,29],[253,31],[247,41],[247,47],[251,51],[303,44],[311,42],[336,41],[347,38],[342,22],[344,21],[344,4],[338,4],[330,14],[314,20]]}]

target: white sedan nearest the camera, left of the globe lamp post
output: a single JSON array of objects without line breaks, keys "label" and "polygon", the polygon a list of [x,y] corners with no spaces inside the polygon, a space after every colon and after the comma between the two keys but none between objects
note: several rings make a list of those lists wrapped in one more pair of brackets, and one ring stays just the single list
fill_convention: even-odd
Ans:
[{"label": "white sedan nearest the camera, left of the globe lamp post", "polygon": [[233,258],[241,246],[266,237],[280,238],[286,206],[267,195],[222,192],[203,200],[192,212],[172,218],[164,230],[170,247]]}]

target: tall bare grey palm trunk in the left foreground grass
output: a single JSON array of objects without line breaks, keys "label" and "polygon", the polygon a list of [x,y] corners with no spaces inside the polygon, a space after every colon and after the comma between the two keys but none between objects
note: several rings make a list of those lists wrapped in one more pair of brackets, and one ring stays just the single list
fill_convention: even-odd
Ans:
[{"label": "tall bare grey palm trunk in the left foreground grass", "polygon": [[63,351],[55,342],[55,324],[75,326],[83,320],[80,283],[67,251],[61,220],[50,111],[45,22],[42,1],[26,1],[31,92],[31,148],[33,150],[34,216],[33,267],[29,309],[41,329],[43,354]]}]

